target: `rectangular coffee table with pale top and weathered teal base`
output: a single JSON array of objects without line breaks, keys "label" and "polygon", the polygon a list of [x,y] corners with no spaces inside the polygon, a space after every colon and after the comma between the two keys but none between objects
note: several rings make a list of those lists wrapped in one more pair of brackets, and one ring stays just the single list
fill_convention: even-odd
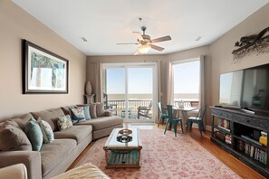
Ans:
[{"label": "rectangular coffee table with pale top and weathered teal base", "polygon": [[117,137],[123,128],[114,128],[103,149],[106,156],[106,168],[139,168],[140,151],[142,149],[139,140],[139,130],[130,128],[132,137],[130,142],[119,142]]}]

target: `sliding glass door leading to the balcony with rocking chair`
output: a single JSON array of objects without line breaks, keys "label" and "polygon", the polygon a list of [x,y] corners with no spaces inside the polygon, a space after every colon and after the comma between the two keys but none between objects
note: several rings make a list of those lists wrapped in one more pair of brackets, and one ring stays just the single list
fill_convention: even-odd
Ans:
[{"label": "sliding glass door leading to the balcony with rocking chair", "polygon": [[103,64],[103,91],[115,115],[131,122],[153,122],[154,66]]}]

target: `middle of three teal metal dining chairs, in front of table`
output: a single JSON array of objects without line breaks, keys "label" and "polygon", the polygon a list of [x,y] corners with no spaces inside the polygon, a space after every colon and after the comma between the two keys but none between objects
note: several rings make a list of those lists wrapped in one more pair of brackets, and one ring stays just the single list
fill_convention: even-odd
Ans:
[{"label": "middle of three teal metal dining chairs, in front of table", "polygon": [[171,127],[173,125],[174,126],[175,137],[177,137],[178,122],[180,122],[180,124],[181,124],[181,130],[182,130],[182,133],[183,133],[182,120],[181,120],[181,118],[174,118],[173,117],[173,108],[177,108],[177,107],[172,106],[172,105],[167,105],[167,108],[168,108],[168,120],[167,120],[167,124],[166,124],[164,134],[166,134],[168,126]]}]

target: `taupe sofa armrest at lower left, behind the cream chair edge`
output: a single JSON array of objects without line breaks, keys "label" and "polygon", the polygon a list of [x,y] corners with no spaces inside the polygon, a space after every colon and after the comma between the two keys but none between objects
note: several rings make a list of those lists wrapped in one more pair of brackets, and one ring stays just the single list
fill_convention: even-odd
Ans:
[{"label": "taupe sofa armrest at lower left, behind the cream chair edge", "polygon": [[35,151],[1,151],[0,152],[0,168],[9,165],[23,163],[27,169],[29,179],[41,179],[41,155]]}]

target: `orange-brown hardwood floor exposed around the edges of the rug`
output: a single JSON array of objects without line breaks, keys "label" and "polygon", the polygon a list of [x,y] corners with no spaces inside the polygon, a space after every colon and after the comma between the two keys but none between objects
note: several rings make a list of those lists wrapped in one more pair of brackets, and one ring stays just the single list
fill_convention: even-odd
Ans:
[{"label": "orange-brown hardwood floor exposed around the edges of the rug", "polygon": [[[164,125],[159,125],[159,128],[164,128],[164,127],[165,127]],[[201,137],[199,130],[197,128],[193,128],[192,131],[187,131],[187,135],[195,139],[197,143],[199,143],[201,146],[206,148],[207,151],[209,151],[212,155],[215,155],[216,158],[222,161],[225,165],[231,168],[236,174],[238,174],[242,178],[255,178],[255,179],[265,178],[261,174],[256,173],[249,166],[241,163],[233,155],[228,154],[221,147],[216,146],[216,144],[211,142],[209,131],[207,131],[206,133],[203,133],[203,137]],[[93,144],[94,144],[94,141],[91,142],[91,144],[85,148],[82,154],[79,155],[79,157],[72,163],[72,165],[68,168],[68,170],[75,167],[75,165],[82,159],[82,157],[91,148]]]}]

